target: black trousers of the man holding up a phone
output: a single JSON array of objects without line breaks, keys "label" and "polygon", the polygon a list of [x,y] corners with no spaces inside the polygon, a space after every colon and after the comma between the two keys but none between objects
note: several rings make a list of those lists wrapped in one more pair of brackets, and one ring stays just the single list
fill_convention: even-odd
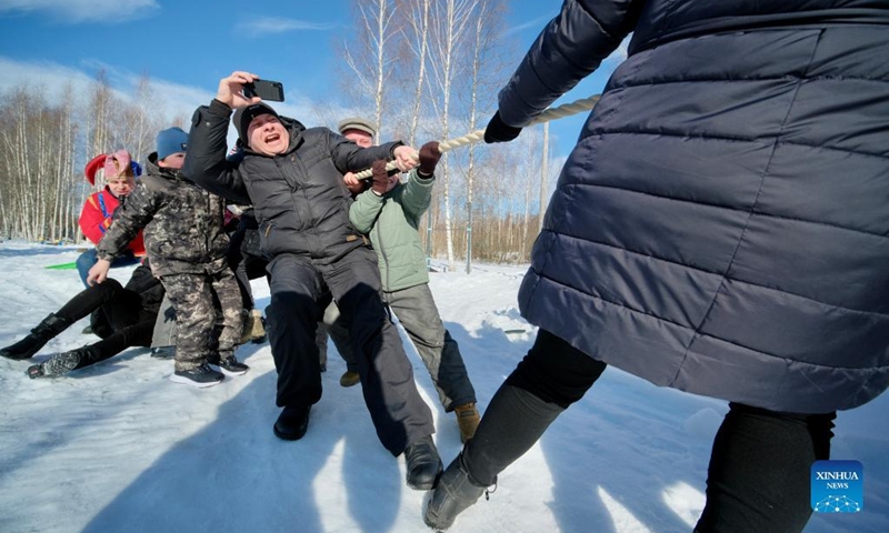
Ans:
[{"label": "black trousers of the man holding up a phone", "polygon": [[380,442],[399,455],[434,433],[432,413],[413,382],[413,370],[380,298],[376,254],[359,248],[332,264],[294,254],[269,263],[269,343],[278,370],[279,406],[312,405],[321,399],[316,328],[330,295],[349,328],[364,403]]}]

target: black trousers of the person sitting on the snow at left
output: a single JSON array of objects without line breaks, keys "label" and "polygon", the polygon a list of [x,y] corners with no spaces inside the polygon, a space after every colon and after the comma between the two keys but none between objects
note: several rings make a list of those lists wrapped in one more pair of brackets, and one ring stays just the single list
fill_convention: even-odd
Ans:
[{"label": "black trousers of the person sitting on the snow at left", "polygon": [[110,329],[94,328],[94,331],[108,334],[90,345],[93,349],[90,356],[81,359],[78,369],[104,361],[130,346],[151,345],[157,315],[146,311],[139,294],[123,289],[117,280],[109,278],[80,291],[56,315],[73,323],[93,311],[97,312],[93,322],[102,322]]}]

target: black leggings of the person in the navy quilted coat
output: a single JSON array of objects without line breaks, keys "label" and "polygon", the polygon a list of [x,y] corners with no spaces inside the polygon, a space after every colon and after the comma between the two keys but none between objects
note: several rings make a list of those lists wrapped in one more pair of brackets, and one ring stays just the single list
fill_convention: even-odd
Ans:
[{"label": "black leggings of the person in the navy quilted coat", "polygon": [[[540,330],[535,345],[507,378],[482,418],[482,425],[486,425],[485,419],[497,404],[495,416],[508,421],[507,429],[502,429],[505,426],[498,424],[497,420],[489,421],[487,425],[499,426],[499,433],[510,434],[499,435],[506,439],[492,436],[485,439],[486,442],[478,442],[480,450],[472,450],[470,456],[486,456],[488,459],[485,462],[491,462],[490,457],[493,456],[493,462],[499,464],[515,461],[527,447],[516,455],[517,450],[508,450],[508,441],[536,442],[540,435],[535,434],[542,434],[551,420],[541,423],[535,419],[551,416],[555,420],[559,409],[568,408],[583,396],[605,368],[605,363]],[[549,414],[540,405],[527,409],[527,399],[520,398],[521,392],[516,396],[516,392],[509,391],[510,388],[558,408],[553,406]],[[510,400],[510,394],[519,401]],[[510,410],[519,413],[518,408],[510,405],[521,404],[526,406],[521,408],[520,415],[510,416]],[[707,477],[707,505],[696,531],[802,531],[811,515],[810,467],[815,461],[830,456],[833,419],[836,413],[785,413],[729,403],[729,413],[713,441]],[[483,436],[490,433],[482,430],[480,426],[479,432]],[[467,447],[471,445],[472,441]],[[503,450],[508,451],[502,453]],[[505,454],[508,456],[497,457]],[[486,472],[483,467],[478,470],[480,480],[490,481],[492,474],[498,473]]]}]

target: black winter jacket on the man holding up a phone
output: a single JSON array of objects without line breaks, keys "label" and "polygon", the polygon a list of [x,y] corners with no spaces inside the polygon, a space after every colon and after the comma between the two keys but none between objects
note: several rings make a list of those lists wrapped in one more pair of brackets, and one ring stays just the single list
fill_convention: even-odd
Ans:
[{"label": "black winter jacket on the man holding up a phone", "polygon": [[327,128],[306,129],[281,117],[290,132],[287,153],[268,157],[249,148],[227,161],[231,109],[213,100],[194,112],[184,172],[201,187],[239,203],[251,203],[262,234],[262,252],[306,255],[332,262],[364,239],[349,222],[348,171],[391,159],[400,142],[362,149]]}]

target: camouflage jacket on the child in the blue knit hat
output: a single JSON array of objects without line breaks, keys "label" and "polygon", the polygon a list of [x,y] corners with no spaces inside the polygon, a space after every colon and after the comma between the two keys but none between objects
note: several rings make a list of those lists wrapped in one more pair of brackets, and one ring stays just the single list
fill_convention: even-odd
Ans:
[{"label": "camouflage jacket on the child in the blue knit hat", "polygon": [[156,276],[216,273],[226,268],[229,238],[222,230],[226,202],[182,172],[161,169],[157,153],[148,157],[143,175],[96,247],[99,259],[124,252],[140,229]]}]

